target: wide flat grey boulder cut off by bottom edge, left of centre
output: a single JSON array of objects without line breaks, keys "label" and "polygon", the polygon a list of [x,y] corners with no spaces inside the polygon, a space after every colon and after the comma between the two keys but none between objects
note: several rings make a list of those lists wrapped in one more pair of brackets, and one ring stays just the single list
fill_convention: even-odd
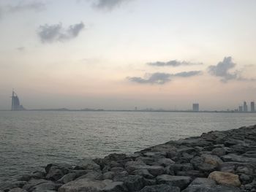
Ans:
[{"label": "wide flat grey boulder cut off by bottom edge, left of centre", "polygon": [[113,180],[88,180],[81,179],[75,180],[62,185],[59,192],[78,192],[78,191],[91,191],[91,192],[123,192],[127,191],[123,182],[113,182]]}]

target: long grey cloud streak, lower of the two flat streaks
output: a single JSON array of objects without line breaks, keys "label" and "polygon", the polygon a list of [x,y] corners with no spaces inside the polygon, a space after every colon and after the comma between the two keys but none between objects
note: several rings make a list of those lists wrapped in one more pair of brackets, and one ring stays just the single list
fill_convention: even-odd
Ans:
[{"label": "long grey cloud streak, lower of the two flat streaks", "polygon": [[200,71],[191,71],[191,72],[179,72],[176,74],[169,73],[153,73],[153,74],[145,74],[145,77],[127,77],[127,80],[130,82],[138,82],[140,84],[158,84],[162,85],[166,82],[170,82],[171,77],[192,77],[200,74]]}]

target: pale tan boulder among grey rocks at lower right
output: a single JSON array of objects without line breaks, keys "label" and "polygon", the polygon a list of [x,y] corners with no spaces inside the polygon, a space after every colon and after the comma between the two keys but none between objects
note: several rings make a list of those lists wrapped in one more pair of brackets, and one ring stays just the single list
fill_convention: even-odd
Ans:
[{"label": "pale tan boulder among grey rocks at lower right", "polygon": [[208,178],[215,180],[220,185],[233,185],[236,187],[241,185],[238,175],[229,172],[211,172]]}]

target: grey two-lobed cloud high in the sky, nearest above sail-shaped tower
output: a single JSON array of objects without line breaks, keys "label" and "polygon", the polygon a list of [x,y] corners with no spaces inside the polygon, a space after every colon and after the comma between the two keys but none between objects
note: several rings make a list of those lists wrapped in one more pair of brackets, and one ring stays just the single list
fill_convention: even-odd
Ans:
[{"label": "grey two-lobed cloud high in the sky, nearest above sail-shaped tower", "polygon": [[39,26],[37,34],[43,43],[45,42],[64,42],[65,40],[78,37],[80,31],[83,30],[84,24],[78,23],[68,28],[63,28],[62,24]]}]

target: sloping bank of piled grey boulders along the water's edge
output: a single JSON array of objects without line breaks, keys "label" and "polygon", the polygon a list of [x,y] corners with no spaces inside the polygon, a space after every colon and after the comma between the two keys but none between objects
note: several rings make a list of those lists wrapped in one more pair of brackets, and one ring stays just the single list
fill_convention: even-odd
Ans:
[{"label": "sloping bank of piled grey boulders along the water's edge", "polygon": [[256,126],[211,131],[126,155],[48,164],[0,192],[256,191]]}]

